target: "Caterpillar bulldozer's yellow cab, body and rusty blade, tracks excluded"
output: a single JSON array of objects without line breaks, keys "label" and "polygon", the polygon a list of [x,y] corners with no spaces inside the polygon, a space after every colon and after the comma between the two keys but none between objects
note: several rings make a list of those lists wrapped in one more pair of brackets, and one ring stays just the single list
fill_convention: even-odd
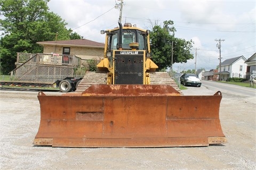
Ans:
[{"label": "Caterpillar bulldozer's yellow cab, body and rusty blade, tracks excluded", "polygon": [[35,145],[52,147],[189,147],[226,142],[221,92],[185,96],[170,85],[150,84],[149,30],[118,22],[106,34],[99,71],[106,84],[82,93],[38,92],[41,121]]}]

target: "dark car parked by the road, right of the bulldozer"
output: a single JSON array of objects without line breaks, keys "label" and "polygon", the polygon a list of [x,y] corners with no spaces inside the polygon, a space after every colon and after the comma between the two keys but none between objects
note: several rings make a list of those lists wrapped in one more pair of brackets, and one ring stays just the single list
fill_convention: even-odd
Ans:
[{"label": "dark car parked by the road, right of the bulldozer", "polygon": [[201,87],[201,84],[202,84],[198,76],[191,73],[185,73],[182,76],[180,76],[180,83],[183,84],[184,86],[191,85],[191,86],[197,86],[197,87]]}]

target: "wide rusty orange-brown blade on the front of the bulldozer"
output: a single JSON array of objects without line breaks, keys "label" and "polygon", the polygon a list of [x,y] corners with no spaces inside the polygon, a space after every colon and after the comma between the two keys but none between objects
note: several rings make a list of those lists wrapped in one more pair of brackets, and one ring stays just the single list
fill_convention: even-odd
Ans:
[{"label": "wide rusty orange-brown blade on the front of the bulldozer", "polygon": [[35,145],[188,147],[225,143],[222,95],[182,96],[170,85],[92,85],[83,93],[38,93]]}]

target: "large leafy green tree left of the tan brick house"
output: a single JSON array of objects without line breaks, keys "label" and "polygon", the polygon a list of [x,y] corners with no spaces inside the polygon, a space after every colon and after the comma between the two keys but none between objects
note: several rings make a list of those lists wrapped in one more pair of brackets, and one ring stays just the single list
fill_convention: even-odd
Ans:
[{"label": "large leafy green tree left of the tan brick house", "polygon": [[70,38],[71,29],[59,15],[49,11],[50,0],[1,0],[0,30],[1,71],[8,74],[15,68],[17,52],[39,53],[43,47],[36,44],[41,41],[54,41]]}]

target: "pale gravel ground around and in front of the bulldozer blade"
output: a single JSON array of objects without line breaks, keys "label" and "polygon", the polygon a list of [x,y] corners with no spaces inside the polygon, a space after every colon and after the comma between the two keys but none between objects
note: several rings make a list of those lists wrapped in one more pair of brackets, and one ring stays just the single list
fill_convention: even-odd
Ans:
[{"label": "pale gravel ground around and in front of the bulldozer blade", "polygon": [[[205,87],[185,95],[213,95]],[[45,92],[60,95],[58,92]],[[1,169],[255,169],[255,102],[223,94],[220,120],[228,143],[185,148],[35,147],[37,92],[0,91]]]}]

